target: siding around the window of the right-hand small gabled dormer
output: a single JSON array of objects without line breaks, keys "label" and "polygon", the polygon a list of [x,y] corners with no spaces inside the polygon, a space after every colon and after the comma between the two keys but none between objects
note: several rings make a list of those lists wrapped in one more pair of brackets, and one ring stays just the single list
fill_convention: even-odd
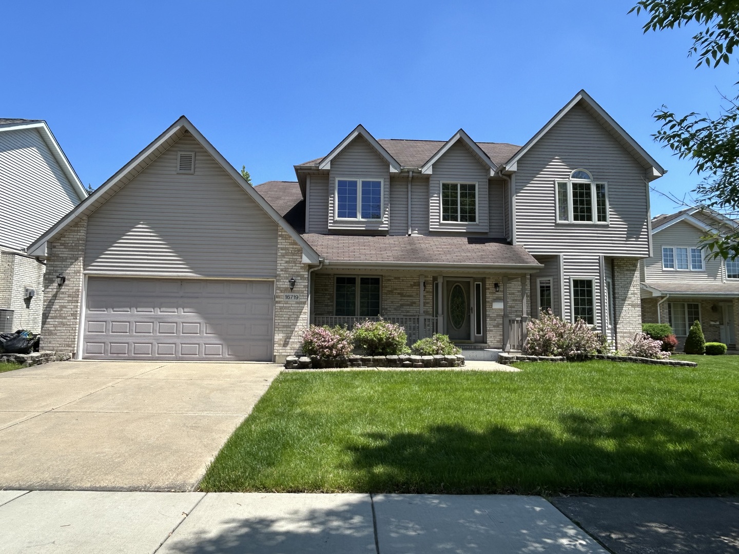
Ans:
[{"label": "siding around the window of the right-hand small gabled dormer", "polygon": [[[434,163],[429,179],[429,228],[432,231],[488,232],[488,168],[457,142]],[[477,223],[441,221],[441,183],[477,182]]]}]

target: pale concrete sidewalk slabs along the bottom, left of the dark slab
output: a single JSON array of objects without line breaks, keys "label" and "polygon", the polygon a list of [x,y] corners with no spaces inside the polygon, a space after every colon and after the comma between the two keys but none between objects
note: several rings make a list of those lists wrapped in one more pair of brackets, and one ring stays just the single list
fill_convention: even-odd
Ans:
[{"label": "pale concrete sidewalk slabs along the bottom, left of the dark slab", "polygon": [[0,491],[0,553],[598,553],[539,496]]}]

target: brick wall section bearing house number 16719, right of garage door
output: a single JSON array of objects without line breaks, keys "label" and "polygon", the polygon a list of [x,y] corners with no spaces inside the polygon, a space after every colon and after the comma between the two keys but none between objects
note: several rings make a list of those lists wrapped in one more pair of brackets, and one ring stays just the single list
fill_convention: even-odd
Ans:
[{"label": "brick wall section bearing house number 16719, right of garage door", "polygon": [[[277,228],[277,280],[275,284],[274,360],[284,363],[299,354],[304,329],[308,325],[308,270],[302,247],[282,227]],[[290,290],[290,278],[295,288]],[[285,293],[299,294],[300,301],[284,301]]]}]

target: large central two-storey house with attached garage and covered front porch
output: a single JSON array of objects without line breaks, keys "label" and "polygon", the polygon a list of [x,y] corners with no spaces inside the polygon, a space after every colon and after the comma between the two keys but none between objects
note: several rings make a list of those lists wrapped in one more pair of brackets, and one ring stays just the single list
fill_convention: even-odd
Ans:
[{"label": "large central two-storey house with attached garage and covered front porch", "polygon": [[546,308],[617,343],[641,329],[664,170],[585,92],[523,147],[358,126],[295,171],[252,188],[181,117],[30,247],[66,278],[47,278],[42,346],[282,361],[310,323],[382,316],[517,349]]}]

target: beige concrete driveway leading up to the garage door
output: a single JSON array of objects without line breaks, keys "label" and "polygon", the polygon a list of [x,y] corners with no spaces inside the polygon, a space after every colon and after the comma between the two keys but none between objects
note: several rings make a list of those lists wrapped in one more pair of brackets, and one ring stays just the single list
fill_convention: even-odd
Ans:
[{"label": "beige concrete driveway leading up to the garage door", "polygon": [[70,361],[0,374],[0,489],[194,490],[280,369]]}]

